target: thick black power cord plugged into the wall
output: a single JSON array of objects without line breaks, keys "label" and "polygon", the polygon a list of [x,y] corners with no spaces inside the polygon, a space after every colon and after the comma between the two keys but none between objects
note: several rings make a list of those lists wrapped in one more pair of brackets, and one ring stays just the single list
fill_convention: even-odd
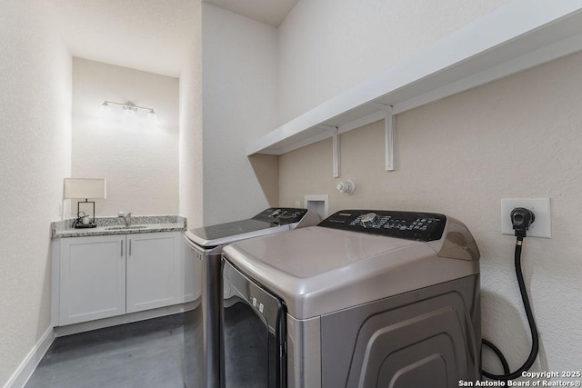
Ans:
[{"label": "thick black power cord plugged into the wall", "polygon": [[517,377],[521,376],[521,373],[529,370],[531,366],[536,362],[537,352],[539,350],[539,338],[537,333],[537,326],[536,320],[534,318],[534,313],[531,310],[531,305],[529,304],[529,298],[527,296],[526,284],[524,282],[524,274],[521,270],[521,248],[526,238],[527,229],[529,229],[529,225],[536,220],[536,215],[529,209],[523,207],[517,207],[512,210],[511,212],[511,222],[513,224],[513,228],[516,231],[517,241],[516,241],[516,253],[515,253],[515,264],[516,264],[516,275],[517,275],[517,284],[519,284],[519,293],[521,293],[521,300],[524,303],[524,308],[526,310],[527,315],[527,323],[529,324],[529,330],[531,332],[531,351],[529,352],[529,356],[527,357],[526,362],[521,365],[517,371],[511,373],[509,370],[509,364],[507,363],[507,359],[501,353],[501,351],[497,348],[496,345],[483,339],[482,342],[484,345],[487,345],[489,348],[493,350],[499,357],[501,364],[503,365],[503,373],[504,374],[494,374],[489,373],[485,369],[482,370],[484,376],[488,377],[489,379],[500,380],[507,382],[507,380],[514,380]]}]

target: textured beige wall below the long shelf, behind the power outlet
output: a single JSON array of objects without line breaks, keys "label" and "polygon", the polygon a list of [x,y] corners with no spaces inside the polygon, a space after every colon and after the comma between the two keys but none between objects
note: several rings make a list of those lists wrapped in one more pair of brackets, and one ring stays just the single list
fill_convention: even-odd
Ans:
[{"label": "textured beige wall below the long shelf, behind the power outlet", "polygon": [[[582,54],[396,116],[396,171],[384,169],[384,123],[342,135],[336,192],[331,141],[282,155],[280,203],[330,194],[342,208],[424,210],[467,224],[481,251],[483,333],[512,370],[529,332],[517,291],[515,237],[500,233],[501,198],[549,197],[552,239],[527,238],[523,267],[541,346],[534,371],[578,370],[582,356]],[[301,184],[297,184],[301,182]],[[488,353],[487,353],[488,354]],[[487,355],[494,372],[497,361]]]}]

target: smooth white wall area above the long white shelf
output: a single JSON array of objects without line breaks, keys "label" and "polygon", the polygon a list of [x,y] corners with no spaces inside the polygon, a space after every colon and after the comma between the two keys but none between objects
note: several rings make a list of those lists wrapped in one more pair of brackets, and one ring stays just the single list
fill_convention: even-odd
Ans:
[{"label": "smooth white wall area above the long white shelf", "polygon": [[301,0],[279,27],[280,122],[508,0]]}]

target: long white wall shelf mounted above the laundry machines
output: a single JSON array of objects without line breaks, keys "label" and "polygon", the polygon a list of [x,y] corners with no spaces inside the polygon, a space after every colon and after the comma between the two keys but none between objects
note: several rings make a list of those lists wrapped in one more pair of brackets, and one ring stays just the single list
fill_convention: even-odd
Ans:
[{"label": "long white wall shelf mounted above the laundry machines", "polygon": [[399,114],[579,51],[582,0],[516,0],[251,140],[246,154],[286,154],[385,119],[382,106]]}]

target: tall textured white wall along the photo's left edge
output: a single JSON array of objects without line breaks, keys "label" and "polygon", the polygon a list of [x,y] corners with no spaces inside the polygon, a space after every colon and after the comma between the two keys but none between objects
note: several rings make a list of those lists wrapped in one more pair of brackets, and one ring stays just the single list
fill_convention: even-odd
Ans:
[{"label": "tall textured white wall along the photo's left edge", "polygon": [[50,228],[70,174],[71,57],[42,0],[0,2],[0,385],[50,327]]}]

